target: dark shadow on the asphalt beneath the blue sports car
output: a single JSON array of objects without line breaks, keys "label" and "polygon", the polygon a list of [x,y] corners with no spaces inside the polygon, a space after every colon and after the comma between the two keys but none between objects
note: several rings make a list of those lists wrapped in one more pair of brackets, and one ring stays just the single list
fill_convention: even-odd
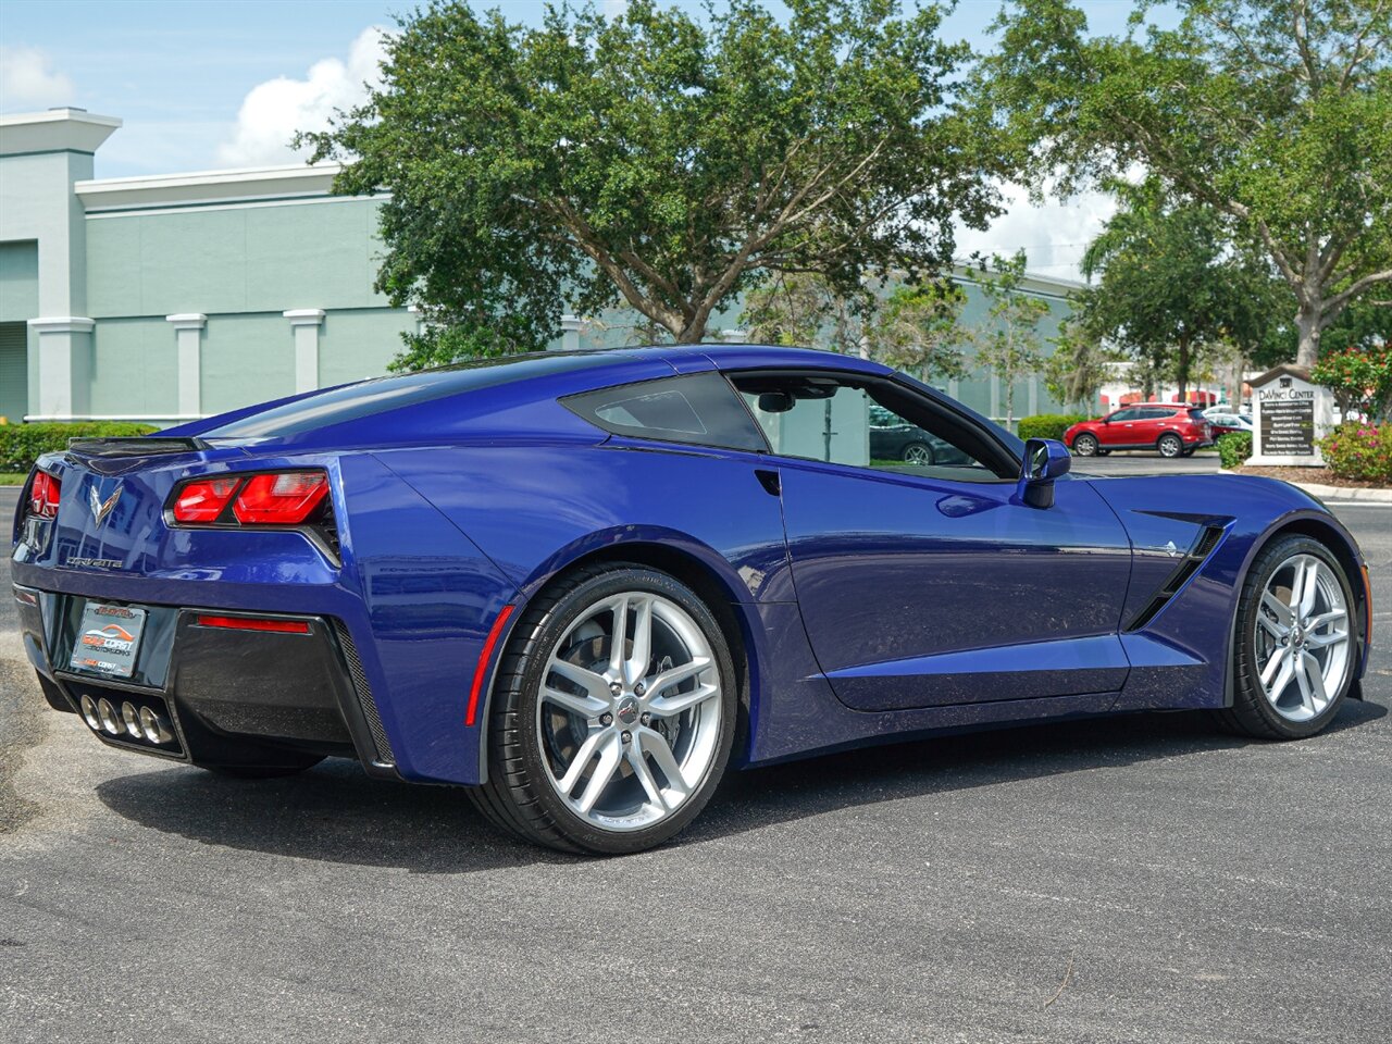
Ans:
[{"label": "dark shadow on the asphalt beneath the blue sports car", "polygon": [[[1328,732],[1386,713],[1378,703],[1350,702]],[[1246,745],[1215,732],[1203,714],[1136,714],[860,749],[731,773],[703,814],[674,844],[702,844],[885,800]],[[427,874],[576,862],[503,835],[458,788],[369,780],[345,760],[260,781],[163,767],[106,780],[96,789],[111,812],[150,830],[296,859]]]}]

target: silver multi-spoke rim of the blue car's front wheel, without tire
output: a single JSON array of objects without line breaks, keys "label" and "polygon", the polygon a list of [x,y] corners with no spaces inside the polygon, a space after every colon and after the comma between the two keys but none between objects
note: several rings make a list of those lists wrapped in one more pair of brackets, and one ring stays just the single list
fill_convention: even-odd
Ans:
[{"label": "silver multi-spoke rim of the blue car's front wheel, without tire", "polygon": [[1310,721],[1329,706],[1352,667],[1349,608],[1334,569],[1313,554],[1276,567],[1257,606],[1261,690],[1288,721]]}]

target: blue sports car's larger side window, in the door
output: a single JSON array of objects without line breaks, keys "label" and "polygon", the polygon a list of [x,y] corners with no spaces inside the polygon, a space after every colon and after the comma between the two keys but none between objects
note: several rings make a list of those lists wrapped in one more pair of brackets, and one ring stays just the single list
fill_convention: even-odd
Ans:
[{"label": "blue sports car's larger side window, in the door", "polygon": [[[784,457],[853,468],[995,482],[1019,464],[984,462],[984,447],[933,418],[913,415],[902,388],[821,374],[734,374],[735,388],[768,445]],[[980,436],[979,436],[980,438]]]}]

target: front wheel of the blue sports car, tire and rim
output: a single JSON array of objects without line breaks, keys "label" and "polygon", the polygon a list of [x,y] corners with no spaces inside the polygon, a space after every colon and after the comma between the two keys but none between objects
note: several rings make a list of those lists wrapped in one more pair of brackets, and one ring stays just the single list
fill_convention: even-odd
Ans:
[{"label": "front wheel of the blue sports car, tire and rim", "polygon": [[1353,683],[1353,593],[1328,548],[1281,539],[1253,562],[1237,610],[1233,731],[1260,739],[1320,732]]}]

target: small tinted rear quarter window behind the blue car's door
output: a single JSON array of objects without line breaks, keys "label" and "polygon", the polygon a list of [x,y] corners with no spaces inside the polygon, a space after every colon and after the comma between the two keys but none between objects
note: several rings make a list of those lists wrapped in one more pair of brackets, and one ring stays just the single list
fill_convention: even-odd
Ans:
[{"label": "small tinted rear quarter window behind the blue car's door", "polygon": [[561,405],[611,434],[764,452],[768,445],[717,373],[567,395]]}]

